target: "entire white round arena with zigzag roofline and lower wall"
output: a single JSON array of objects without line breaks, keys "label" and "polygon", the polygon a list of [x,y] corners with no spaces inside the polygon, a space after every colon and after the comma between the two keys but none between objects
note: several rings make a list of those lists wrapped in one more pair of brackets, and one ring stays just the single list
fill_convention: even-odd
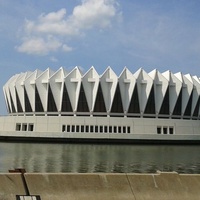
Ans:
[{"label": "entire white round arena with zigzag roofline and lower wall", "polygon": [[200,79],[190,74],[48,68],[14,75],[3,91],[5,140],[200,142]]}]

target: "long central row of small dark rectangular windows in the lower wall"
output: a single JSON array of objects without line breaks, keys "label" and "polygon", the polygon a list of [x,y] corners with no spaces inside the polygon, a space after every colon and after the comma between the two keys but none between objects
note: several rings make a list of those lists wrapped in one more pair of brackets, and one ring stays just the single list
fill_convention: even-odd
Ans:
[{"label": "long central row of small dark rectangular windows in the lower wall", "polygon": [[62,132],[72,133],[130,133],[130,126],[62,125]]}]

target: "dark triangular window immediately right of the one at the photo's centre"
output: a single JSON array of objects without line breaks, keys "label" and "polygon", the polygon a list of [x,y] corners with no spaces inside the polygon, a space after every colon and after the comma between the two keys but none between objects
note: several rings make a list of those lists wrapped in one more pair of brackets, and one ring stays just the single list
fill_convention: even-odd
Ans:
[{"label": "dark triangular window immediately right of the one at the photo's centre", "polygon": [[122,98],[121,92],[119,88],[119,83],[117,84],[117,88],[115,91],[115,96],[112,103],[111,113],[123,113],[123,105],[122,105]]}]

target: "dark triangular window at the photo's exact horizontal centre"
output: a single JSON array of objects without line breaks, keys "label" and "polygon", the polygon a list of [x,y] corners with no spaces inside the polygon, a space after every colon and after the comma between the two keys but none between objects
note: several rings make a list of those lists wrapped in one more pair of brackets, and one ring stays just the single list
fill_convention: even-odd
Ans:
[{"label": "dark triangular window at the photo's exact horizontal centre", "polygon": [[98,87],[98,91],[97,91],[94,112],[106,112],[106,106],[105,106],[103,92],[102,92],[100,83],[99,83],[99,87]]}]

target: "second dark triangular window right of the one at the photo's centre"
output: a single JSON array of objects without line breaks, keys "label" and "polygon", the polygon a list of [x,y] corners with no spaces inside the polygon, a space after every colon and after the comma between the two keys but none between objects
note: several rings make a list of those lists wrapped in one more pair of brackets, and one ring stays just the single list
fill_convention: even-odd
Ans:
[{"label": "second dark triangular window right of the one at the photo's centre", "polygon": [[133,91],[133,95],[131,97],[131,102],[129,105],[128,113],[140,113],[137,84],[135,84],[135,88]]}]

